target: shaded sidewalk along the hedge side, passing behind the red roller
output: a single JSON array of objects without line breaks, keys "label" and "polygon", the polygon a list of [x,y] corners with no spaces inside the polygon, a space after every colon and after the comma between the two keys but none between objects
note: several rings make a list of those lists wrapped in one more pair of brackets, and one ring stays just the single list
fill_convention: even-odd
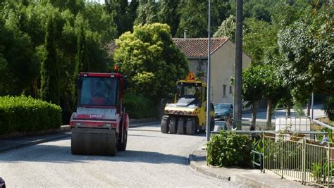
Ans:
[{"label": "shaded sidewalk along the hedge side, passing behind the red roller", "polygon": [[[140,126],[154,125],[159,123],[160,121],[155,119],[130,120],[130,127],[140,127]],[[50,142],[57,139],[63,139],[66,137],[70,137],[69,125],[63,125],[56,132],[51,134],[0,139],[0,153],[12,149],[19,149],[25,146],[32,146],[44,142]]]}]

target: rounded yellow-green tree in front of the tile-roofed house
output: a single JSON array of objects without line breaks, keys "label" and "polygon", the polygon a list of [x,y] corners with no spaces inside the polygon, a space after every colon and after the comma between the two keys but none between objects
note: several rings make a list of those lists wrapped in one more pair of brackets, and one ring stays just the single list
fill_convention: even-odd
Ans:
[{"label": "rounded yellow-green tree in front of the tile-roofed house", "polygon": [[116,39],[116,45],[114,61],[121,63],[132,91],[154,102],[173,92],[175,81],[187,74],[187,60],[166,24],[137,25]]}]

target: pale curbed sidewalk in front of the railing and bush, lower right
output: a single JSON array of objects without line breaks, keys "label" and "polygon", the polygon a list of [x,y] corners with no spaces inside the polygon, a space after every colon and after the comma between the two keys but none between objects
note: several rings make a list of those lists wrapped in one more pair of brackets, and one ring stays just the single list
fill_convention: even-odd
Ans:
[{"label": "pale curbed sidewalk in front of the railing and bush, lower right", "polygon": [[279,175],[269,170],[261,173],[259,169],[209,167],[206,165],[206,151],[202,147],[194,150],[188,160],[190,167],[198,173],[220,180],[239,182],[249,187],[309,187],[302,185],[301,182],[280,179]]}]

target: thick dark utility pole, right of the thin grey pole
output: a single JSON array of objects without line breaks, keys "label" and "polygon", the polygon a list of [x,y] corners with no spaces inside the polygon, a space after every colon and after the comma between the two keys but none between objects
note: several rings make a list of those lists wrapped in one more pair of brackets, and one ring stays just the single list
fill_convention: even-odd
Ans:
[{"label": "thick dark utility pole, right of the thin grey pole", "polygon": [[242,111],[242,0],[237,0],[237,26],[235,30],[235,71],[234,71],[233,124],[241,130]]}]

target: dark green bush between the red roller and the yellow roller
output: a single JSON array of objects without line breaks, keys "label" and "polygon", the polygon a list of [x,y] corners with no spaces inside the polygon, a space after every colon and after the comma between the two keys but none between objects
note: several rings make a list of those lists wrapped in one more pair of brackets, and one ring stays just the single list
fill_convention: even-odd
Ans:
[{"label": "dark green bush between the red roller and the yellow roller", "polygon": [[140,94],[126,93],[123,106],[130,118],[154,118],[157,116],[158,108],[154,102]]}]

